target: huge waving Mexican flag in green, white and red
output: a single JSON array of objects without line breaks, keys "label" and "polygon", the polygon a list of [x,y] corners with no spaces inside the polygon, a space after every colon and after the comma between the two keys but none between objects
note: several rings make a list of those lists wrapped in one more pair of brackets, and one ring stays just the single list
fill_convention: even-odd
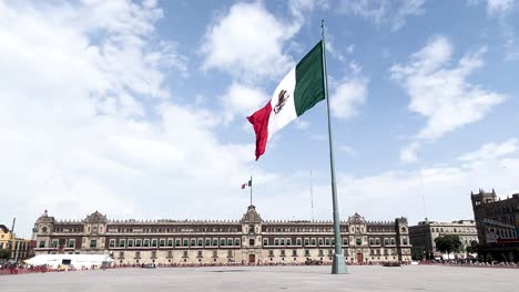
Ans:
[{"label": "huge waving Mexican flag in green, white and red", "polygon": [[247,117],[256,133],[256,160],[274,133],[325,98],[324,86],[320,41],[279,82],[272,100]]}]

